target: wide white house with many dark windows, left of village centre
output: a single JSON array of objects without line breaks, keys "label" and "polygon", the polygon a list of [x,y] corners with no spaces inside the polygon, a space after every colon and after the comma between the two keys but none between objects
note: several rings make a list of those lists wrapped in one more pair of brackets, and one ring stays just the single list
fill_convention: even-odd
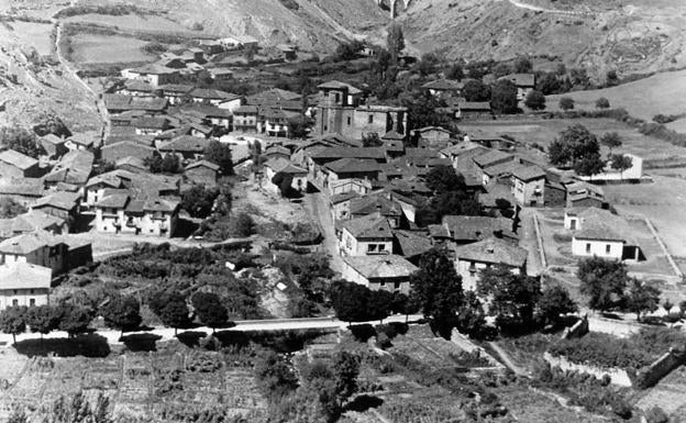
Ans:
[{"label": "wide white house with many dark windows, left of village centre", "polygon": [[174,197],[136,199],[126,190],[104,190],[96,203],[96,231],[172,237],[180,200]]}]

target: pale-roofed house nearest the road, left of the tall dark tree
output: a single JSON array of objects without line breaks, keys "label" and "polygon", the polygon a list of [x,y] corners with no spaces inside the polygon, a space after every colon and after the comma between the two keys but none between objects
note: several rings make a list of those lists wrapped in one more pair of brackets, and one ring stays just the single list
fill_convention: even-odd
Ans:
[{"label": "pale-roofed house nearest the road, left of the tall dark tree", "polygon": [[342,278],[370,290],[410,293],[410,276],[419,268],[401,256],[343,257]]}]

